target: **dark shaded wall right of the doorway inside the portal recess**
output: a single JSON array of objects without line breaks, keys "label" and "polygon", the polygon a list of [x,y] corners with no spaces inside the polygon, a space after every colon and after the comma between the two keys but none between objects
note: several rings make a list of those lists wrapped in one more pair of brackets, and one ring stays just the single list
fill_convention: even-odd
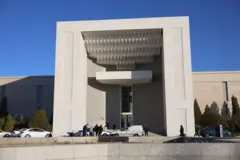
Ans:
[{"label": "dark shaded wall right of the doorway inside the portal recess", "polygon": [[141,65],[137,70],[151,70],[151,83],[133,86],[133,119],[135,125],[146,125],[154,133],[165,133],[162,57],[154,63]]}]

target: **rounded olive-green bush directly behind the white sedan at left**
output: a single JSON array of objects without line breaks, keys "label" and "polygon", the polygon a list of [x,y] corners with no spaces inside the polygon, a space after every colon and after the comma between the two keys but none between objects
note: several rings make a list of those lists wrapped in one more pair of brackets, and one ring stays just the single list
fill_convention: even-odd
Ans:
[{"label": "rounded olive-green bush directly behind the white sedan at left", "polygon": [[29,121],[29,127],[50,130],[51,126],[49,124],[46,111],[43,109],[37,109]]}]

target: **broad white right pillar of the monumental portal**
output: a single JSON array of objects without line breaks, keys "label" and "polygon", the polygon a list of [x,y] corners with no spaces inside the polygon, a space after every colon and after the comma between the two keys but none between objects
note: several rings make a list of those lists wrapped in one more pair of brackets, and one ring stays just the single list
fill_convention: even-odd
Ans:
[{"label": "broad white right pillar of the monumental portal", "polygon": [[168,136],[179,135],[183,125],[194,135],[192,71],[189,26],[166,27],[164,41],[165,127]]}]

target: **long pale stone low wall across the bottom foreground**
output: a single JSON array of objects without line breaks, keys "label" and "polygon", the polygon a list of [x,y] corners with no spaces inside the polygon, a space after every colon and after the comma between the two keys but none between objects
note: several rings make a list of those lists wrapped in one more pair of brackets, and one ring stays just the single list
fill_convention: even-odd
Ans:
[{"label": "long pale stone low wall across the bottom foreground", "polygon": [[240,144],[75,144],[2,147],[0,160],[239,160]]}]

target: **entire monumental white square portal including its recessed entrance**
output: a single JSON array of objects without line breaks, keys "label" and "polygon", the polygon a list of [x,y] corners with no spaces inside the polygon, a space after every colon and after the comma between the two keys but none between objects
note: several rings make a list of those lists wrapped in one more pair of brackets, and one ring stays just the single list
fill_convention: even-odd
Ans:
[{"label": "entire monumental white square portal including its recessed entrance", "polygon": [[190,55],[188,17],[58,22],[53,132],[109,121],[193,135]]}]

